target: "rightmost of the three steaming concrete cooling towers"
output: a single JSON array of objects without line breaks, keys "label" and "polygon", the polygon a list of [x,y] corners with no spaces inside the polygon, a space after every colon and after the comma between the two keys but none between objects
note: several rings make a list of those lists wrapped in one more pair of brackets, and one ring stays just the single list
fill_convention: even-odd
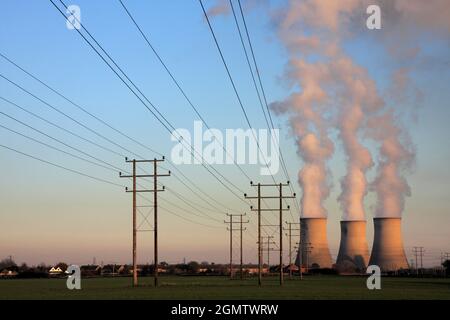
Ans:
[{"label": "rightmost of the three steaming concrete cooling towers", "polygon": [[403,249],[401,218],[374,218],[374,239],[369,265],[378,265],[382,271],[408,269]]}]

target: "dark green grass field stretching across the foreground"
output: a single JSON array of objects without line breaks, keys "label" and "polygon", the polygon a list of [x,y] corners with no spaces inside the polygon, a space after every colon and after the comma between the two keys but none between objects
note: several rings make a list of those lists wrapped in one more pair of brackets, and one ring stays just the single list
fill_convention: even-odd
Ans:
[{"label": "dark green grass field stretching across the foreground", "polygon": [[450,279],[382,278],[381,290],[368,290],[365,277],[309,276],[229,280],[226,277],[167,276],[159,288],[153,278],[82,279],[82,290],[68,290],[65,279],[12,279],[0,281],[0,299],[450,299]]}]

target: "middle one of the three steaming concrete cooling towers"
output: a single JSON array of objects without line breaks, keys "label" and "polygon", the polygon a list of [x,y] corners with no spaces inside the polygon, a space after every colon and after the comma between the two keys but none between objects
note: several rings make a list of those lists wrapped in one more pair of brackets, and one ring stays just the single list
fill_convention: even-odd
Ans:
[{"label": "middle one of the three steaming concrete cooling towers", "polygon": [[365,272],[368,261],[366,221],[341,221],[341,244],[336,269],[339,272]]}]

